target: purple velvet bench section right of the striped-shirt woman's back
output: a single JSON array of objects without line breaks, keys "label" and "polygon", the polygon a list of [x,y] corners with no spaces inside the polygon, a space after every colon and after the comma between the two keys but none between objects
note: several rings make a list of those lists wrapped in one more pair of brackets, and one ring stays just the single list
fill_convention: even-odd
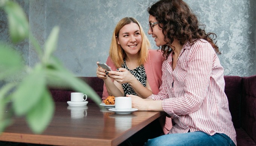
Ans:
[{"label": "purple velvet bench section right of the striped-shirt woman's back", "polygon": [[238,146],[256,146],[256,75],[224,76]]}]

